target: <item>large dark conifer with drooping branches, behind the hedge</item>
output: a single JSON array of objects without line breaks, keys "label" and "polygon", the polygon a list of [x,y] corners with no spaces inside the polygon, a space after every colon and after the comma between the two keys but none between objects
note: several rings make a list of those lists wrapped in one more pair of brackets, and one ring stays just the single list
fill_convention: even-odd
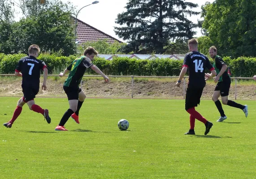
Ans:
[{"label": "large dark conifer with drooping branches, behind the hedge", "polygon": [[115,33],[128,45],[124,51],[135,53],[165,53],[179,43],[195,35],[197,25],[187,19],[196,15],[192,8],[197,4],[184,0],[129,0],[127,11],[117,15]]}]

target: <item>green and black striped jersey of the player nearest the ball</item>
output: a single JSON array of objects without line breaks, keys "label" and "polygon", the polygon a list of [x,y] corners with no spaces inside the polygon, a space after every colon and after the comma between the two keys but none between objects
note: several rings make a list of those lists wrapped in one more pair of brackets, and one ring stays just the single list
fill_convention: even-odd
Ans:
[{"label": "green and black striped jersey of the player nearest the ball", "polygon": [[87,56],[81,56],[75,59],[73,63],[67,67],[70,72],[68,78],[64,82],[64,86],[79,88],[84,72],[91,65],[93,64]]}]

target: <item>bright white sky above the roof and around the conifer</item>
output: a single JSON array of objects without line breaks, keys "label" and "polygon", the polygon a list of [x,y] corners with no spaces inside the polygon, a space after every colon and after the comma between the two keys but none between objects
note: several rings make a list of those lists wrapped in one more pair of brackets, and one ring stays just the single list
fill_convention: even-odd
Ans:
[{"label": "bright white sky above the roof and around the conifer", "polygon": [[[74,6],[76,6],[76,8],[79,10],[83,6],[91,4],[95,0],[62,0],[64,3],[68,1],[73,3]],[[126,11],[124,7],[129,0],[98,1],[98,4],[91,4],[90,6],[83,8],[78,14],[78,19],[122,41],[122,39],[119,38],[114,32],[114,26],[119,26],[115,23],[115,19],[117,18],[117,14]],[[192,2],[199,5],[198,8],[192,9],[197,12],[201,11],[201,5],[205,4],[207,1],[212,3],[214,0],[186,0],[186,2]],[[188,17],[188,19],[194,23],[197,23],[197,20],[200,19],[200,15],[191,16]],[[200,29],[198,28],[196,31],[196,36],[200,37],[202,35]]]}]

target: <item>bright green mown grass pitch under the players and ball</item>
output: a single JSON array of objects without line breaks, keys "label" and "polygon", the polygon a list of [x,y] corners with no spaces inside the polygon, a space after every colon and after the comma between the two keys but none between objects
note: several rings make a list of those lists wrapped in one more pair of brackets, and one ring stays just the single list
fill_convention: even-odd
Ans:
[{"label": "bright green mown grass pitch under the players and ball", "polygon": [[[0,98],[0,122],[11,119],[18,98]],[[210,100],[197,107],[214,126],[204,136],[196,121],[195,136],[184,135],[189,115],[184,100],[86,99],[80,124],[55,131],[68,109],[66,98],[36,98],[52,123],[24,106],[12,128],[0,130],[0,179],[255,179],[256,101],[249,115],[224,106],[228,116],[217,123]],[[128,131],[117,122],[127,119]],[[1,124],[1,125],[2,125]]]}]

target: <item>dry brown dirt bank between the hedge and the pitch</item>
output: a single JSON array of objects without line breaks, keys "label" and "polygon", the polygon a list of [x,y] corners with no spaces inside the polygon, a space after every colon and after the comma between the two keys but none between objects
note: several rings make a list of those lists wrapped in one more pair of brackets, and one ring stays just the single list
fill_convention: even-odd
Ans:
[{"label": "dry brown dirt bank between the hedge and the pitch", "polygon": [[[59,78],[48,79],[48,90],[39,90],[38,96],[65,97],[63,81]],[[183,98],[183,83],[180,88],[175,86],[176,81],[135,81],[133,86],[134,98]],[[187,87],[187,85],[186,85]],[[202,98],[211,99],[214,83],[208,83],[204,88]],[[82,90],[87,97],[130,98],[132,84],[130,80],[111,81],[104,83],[102,79],[83,80]],[[186,89],[185,89],[186,90]],[[21,79],[0,81],[0,96],[22,96]],[[230,99],[234,99],[234,85],[230,87]],[[237,99],[256,100],[256,85],[238,85]]]}]

